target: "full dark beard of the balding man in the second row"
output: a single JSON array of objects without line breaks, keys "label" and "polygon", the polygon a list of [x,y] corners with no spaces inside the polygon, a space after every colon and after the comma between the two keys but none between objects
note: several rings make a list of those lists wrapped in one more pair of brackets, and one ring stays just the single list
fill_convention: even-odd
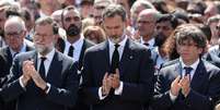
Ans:
[{"label": "full dark beard of the balding man in the second row", "polygon": [[68,28],[67,28],[67,35],[68,36],[77,36],[80,35],[81,32],[81,27],[78,27],[74,24],[71,24]]}]

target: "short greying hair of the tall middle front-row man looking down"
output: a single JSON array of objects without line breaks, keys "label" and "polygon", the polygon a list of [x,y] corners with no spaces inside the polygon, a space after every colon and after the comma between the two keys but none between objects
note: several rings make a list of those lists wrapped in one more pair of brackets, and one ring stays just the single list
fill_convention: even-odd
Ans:
[{"label": "short greying hair of the tall middle front-row man looking down", "polygon": [[119,15],[123,20],[123,22],[126,21],[127,19],[127,14],[126,14],[126,11],[124,9],[124,7],[121,7],[120,4],[109,4],[103,12],[103,20],[105,17],[114,17],[115,15]]}]

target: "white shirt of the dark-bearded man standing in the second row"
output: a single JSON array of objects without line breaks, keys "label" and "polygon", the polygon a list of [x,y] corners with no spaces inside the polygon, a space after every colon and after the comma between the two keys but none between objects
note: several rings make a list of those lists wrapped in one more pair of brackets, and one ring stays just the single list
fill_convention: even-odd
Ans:
[{"label": "white shirt of the dark-bearded man standing in the second row", "polygon": [[84,37],[81,35],[80,39],[77,40],[74,44],[70,44],[68,40],[66,40],[65,41],[66,45],[65,45],[63,53],[68,56],[70,46],[73,46],[73,48],[74,48],[74,50],[73,50],[73,60],[79,61],[80,53],[81,53],[82,46],[83,46],[83,39],[84,39]]}]

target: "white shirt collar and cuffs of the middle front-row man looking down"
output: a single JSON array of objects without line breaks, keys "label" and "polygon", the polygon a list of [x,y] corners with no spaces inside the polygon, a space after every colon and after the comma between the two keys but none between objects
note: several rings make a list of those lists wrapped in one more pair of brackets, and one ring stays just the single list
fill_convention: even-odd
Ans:
[{"label": "white shirt collar and cuffs of the middle front-row man looking down", "polygon": [[[125,36],[125,35],[124,35]],[[127,41],[128,37],[125,36],[125,38],[118,44],[119,47],[117,48],[118,49],[118,52],[119,52],[119,60],[121,59],[123,57],[123,51],[125,49],[125,45],[126,45],[126,41]],[[113,57],[113,52],[115,50],[115,44],[113,41],[111,41],[108,39],[108,47],[109,47],[109,63],[112,63],[112,57]],[[120,81],[120,84],[119,84],[119,87],[117,89],[115,89],[115,95],[121,95],[123,93],[123,82]],[[99,88],[99,97],[101,100],[105,99],[107,96],[103,96],[102,94],[102,87]]]}]

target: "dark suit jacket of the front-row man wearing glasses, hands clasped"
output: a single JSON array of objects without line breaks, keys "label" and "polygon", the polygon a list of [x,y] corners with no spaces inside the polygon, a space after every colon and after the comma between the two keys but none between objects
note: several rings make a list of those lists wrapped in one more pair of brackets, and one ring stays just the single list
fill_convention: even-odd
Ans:
[{"label": "dark suit jacket of the front-row man wearing glasses, hands clasped", "polygon": [[25,89],[19,83],[22,75],[22,62],[33,59],[37,65],[36,51],[21,53],[15,57],[10,72],[10,80],[0,93],[5,100],[16,99],[16,110],[66,110],[74,106],[79,81],[77,78],[77,63],[58,51],[55,52],[46,82],[51,85],[48,94],[42,91],[33,81]]}]

